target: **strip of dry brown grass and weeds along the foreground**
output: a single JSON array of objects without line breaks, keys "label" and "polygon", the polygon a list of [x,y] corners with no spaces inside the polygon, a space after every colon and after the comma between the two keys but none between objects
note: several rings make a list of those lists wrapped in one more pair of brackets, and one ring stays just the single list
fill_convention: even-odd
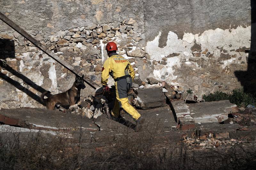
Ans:
[{"label": "strip of dry brown grass and weeds along the foreground", "polygon": [[[106,135],[84,143],[42,133],[0,134],[1,169],[255,169],[255,145],[195,151],[161,141],[157,131]],[[83,136],[82,136],[83,137]],[[80,141],[80,142],[79,142]],[[252,143],[251,143],[252,144]]]}]

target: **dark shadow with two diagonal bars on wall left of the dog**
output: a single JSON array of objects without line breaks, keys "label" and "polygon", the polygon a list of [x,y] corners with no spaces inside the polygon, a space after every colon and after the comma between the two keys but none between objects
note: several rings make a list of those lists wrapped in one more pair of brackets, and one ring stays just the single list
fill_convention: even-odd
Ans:
[{"label": "dark shadow with two diagonal bars on wall left of the dog", "polygon": [[[20,78],[26,85],[29,85],[30,87],[36,89],[37,91],[39,91],[41,93],[43,93],[45,91],[45,89],[36,85],[33,81],[28,79],[26,76],[19,73],[19,71],[16,71],[11,66],[9,66],[8,62],[6,62],[7,58],[10,58],[10,59],[15,58],[14,41],[0,39],[0,66],[2,67],[2,70],[6,70],[6,71],[9,72],[9,74],[11,73],[12,75]],[[20,85],[20,83],[18,81],[13,80],[9,76],[7,76],[7,75],[5,75],[4,73],[1,73],[1,72],[0,72],[0,78],[3,79],[6,82],[12,84],[15,88],[21,90],[22,92],[26,93],[29,97],[33,98],[37,102],[44,105],[44,103],[41,102],[39,96],[37,96],[32,91],[30,91],[28,88],[25,88],[22,85]]]}]

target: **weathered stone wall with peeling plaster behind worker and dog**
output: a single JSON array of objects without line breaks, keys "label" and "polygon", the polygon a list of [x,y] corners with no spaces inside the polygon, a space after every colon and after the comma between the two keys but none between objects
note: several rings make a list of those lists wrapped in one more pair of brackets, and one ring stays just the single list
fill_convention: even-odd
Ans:
[{"label": "weathered stone wall with peeling plaster behind worker and dog", "polygon": [[[98,84],[109,41],[139,85],[155,77],[199,95],[230,92],[241,87],[234,72],[247,70],[249,0],[10,0],[0,12]],[[44,90],[72,86],[72,73],[3,22],[0,37],[0,107],[43,107]],[[87,85],[83,96],[93,91]]]}]

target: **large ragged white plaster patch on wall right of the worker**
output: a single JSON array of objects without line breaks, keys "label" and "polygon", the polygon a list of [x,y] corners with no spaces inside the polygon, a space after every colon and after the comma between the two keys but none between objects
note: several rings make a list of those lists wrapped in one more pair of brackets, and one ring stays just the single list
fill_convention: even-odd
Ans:
[{"label": "large ragged white plaster patch on wall right of the worker", "polygon": [[[185,64],[190,65],[191,62],[188,61],[188,58],[193,56],[190,48],[194,45],[196,41],[197,44],[201,44],[202,51],[208,50],[211,54],[214,54],[215,57],[220,57],[220,49],[230,51],[233,49],[239,49],[241,47],[250,47],[250,39],[251,39],[251,26],[242,27],[239,26],[236,29],[220,29],[216,28],[215,30],[206,30],[200,36],[199,34],[193,35],[192,33],[184,33],[183,39],[178,39],[178,36],[170,31],[167,36],[166,46],[163,48],[158,47],[159,39],[161,36],[161,32],[155,37],[153,41],[148,41],[146,45],[146,52],[150,55],[151,60],[161,61],[163,57],[168,56],[172,53],[181,53],[182,55],[171,57],[167,59],[167,65],[165,65],[162,69],[157,67],[156,70],[153,71],[156,79],[161,79],[166,72],[168,75],[165,75],[166,81],[171,81],[176,79],[177,76],[173,76],[175,70],[172,69],[173,66],[180,66],[180,58],[185,58]],[[229,52],[229,54],[233,54]],[[235,54],[235,53],[234,53]],[[203,55],[201,57],[204,57]],[[205,60],[208,58],[205,57]],[[222,68],[230,65],[231,63],[239,62],[236,61],[237,58],[231,58],[229,60],[222,61],[224,65]],[[196,67],[198,67],[196,63]]]}]

